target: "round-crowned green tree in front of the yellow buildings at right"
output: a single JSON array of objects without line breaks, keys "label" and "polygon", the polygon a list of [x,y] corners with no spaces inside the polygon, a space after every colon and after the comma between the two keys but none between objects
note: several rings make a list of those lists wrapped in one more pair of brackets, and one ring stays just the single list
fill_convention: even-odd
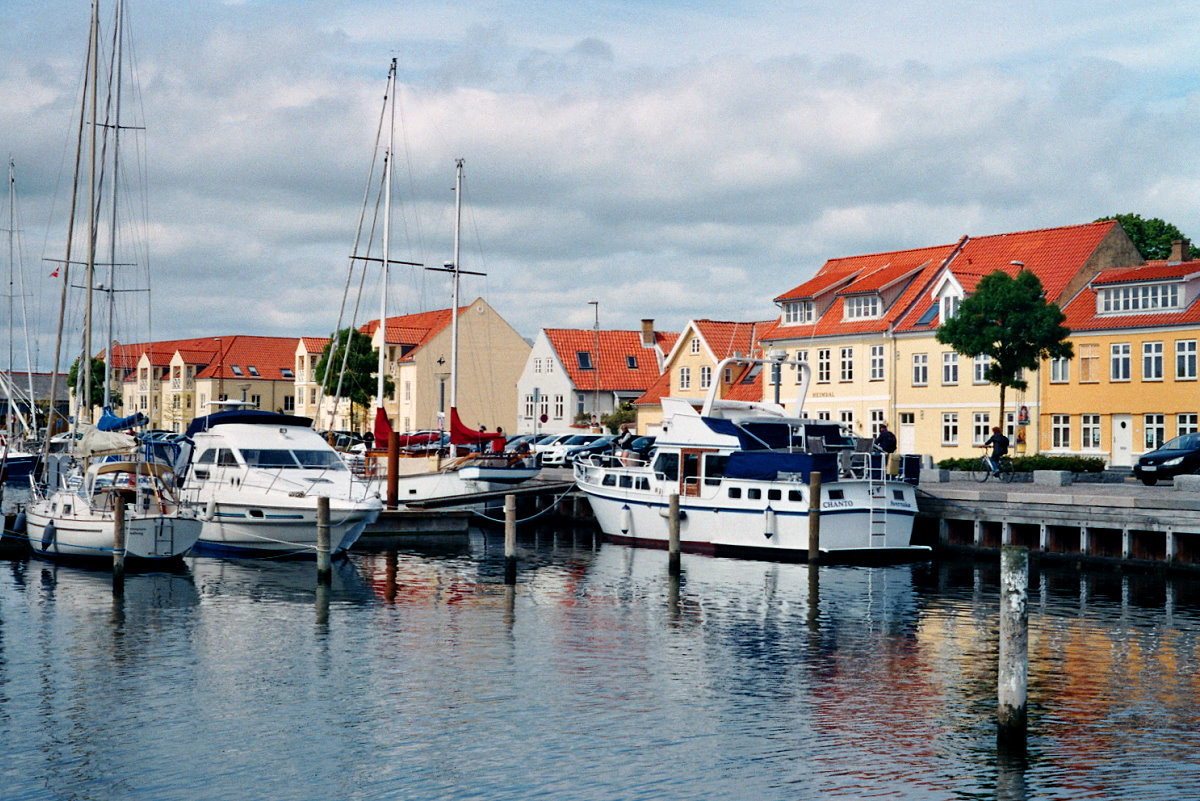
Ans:
[{"label": "round-crowned green tree in front of the yellow buildings at right", "polygon": [[1024,390],[1022,369],[1036,371],[1043,359],[1075,355],[1062,323],[1066,315],[1046,302],[1042,282],[1028,270],[1015,278],[1006,272],[984,276],[958,313],[942,323],[937,341],[964,356],[990,356],[985,378],[1000,386],[1000,421],[1004,420],[1004,390]]}]

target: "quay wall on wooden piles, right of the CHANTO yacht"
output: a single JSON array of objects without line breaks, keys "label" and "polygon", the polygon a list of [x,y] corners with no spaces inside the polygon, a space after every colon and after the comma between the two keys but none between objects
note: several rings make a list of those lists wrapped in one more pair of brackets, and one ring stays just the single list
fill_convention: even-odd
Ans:
[{"label": "quay wall on wooden piles, right of the CHANTO yacht", "polygon": [[1200,571],[1200,492],[1170,484],[923,482],[914,541],[940,550],[1030,548],[1050,561]]}]

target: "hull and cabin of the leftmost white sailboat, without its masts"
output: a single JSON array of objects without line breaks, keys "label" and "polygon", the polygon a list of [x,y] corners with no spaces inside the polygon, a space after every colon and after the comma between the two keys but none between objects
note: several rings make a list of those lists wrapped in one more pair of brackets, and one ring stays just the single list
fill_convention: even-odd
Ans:
[{"label": "hull and cabin of the leftmost white sailboat, without its masts", "polygon": [[174,472],[163,464],[92,463],[66,486],[35,494],[25,507],[29,544],[38,556],[112,561],[121,499],[126,559],[179,559],[200,536],[200,519],[173,487]]}]

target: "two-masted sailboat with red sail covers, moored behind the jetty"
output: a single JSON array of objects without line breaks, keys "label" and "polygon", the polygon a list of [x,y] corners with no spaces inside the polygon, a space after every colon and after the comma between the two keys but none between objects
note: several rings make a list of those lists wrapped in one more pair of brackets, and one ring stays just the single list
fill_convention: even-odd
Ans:
[{"label": "two-masted sailboat with red sail covers, moored behind the jetty", "polygon": [[[388,94],[395,103],[396,61],[392,60],[388,74]],[[374,445],[376,454],[386,451],[392,434],[383,403],[385,397],[386,351],[388,351],[388,269],[390,260],[390,218],[391,218],[391,169],[395,155],[395,126],[389,131],[388,153],[384,159],[384,219],[383,219],[383,275],[379,300],[379,354],[376,387]],[[452,281],[452,303],[450,308],[450,414],[449,414],[449,457],[439,452],[432,456],[421,454],[414,459],[402,460],[401,474],[397,476],[397,498],[401,502],[430,500],[433,498],[469,496],[479,493],[502,489],[533,478],[540,471],[535,458],[504,452],[504,436],[490,432],[475,430],[458,416],[458,324],[463,309],[460,307],[460,277],[466,272],[460,267],[461,227],[462,227],[462,177],[463,159],[457,159],[455,169],[455,222],[454,222],[454,260],[442,267],[427,267],[446,272]],[[420,266],[420,265],[414,265]],[[482,275],[469,272],[467,275]],[[460,453],[460,448],[464,448]],[[406,470],[407,468],[407,470]],[[383,481],[380,478],[379,481]],[[468,504],[464,504],[468,505]]]}]

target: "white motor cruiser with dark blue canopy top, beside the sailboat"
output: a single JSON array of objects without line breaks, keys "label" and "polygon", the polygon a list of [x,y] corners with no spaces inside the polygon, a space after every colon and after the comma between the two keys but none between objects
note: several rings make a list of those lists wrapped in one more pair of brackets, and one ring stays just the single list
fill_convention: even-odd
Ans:
[{"label": "white motor cruiser with dark blue canopy top, beside the sailboat", "polygon": [[[238,404],[224,404],[238,405]],[[332,553],[347,550],[383,510],[307,417],[229,409],[197,417],[181,454],[184,498],[200,511],[196,552],[317,553],[317,499],[329,499]]]}]

